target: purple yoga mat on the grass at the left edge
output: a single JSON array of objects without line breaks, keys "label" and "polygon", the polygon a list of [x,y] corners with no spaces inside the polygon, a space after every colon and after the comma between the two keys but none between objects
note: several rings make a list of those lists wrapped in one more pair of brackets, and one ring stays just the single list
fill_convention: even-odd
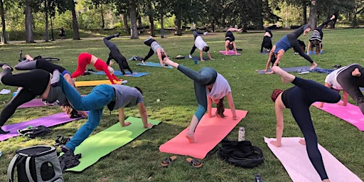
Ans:
[{"label": "purple yoga mat on the grass at the left edge", "polygon": [[26,127],[29,127],[29,125],[32,125],[33,127],[44,125],[45,127],[52,127],[57,124],[63,124],[66,122],[72,122],[77,119],[82,119],[84,117],[78,117],[78,118],[70,118],[68,114],[65,114],[64,112],[60,112],[58,114],[53,114],[47,117],[41,117],[38,119],[32,119],[26,122],[20,122],[16,124],[9,124],[4,125],[1,127],[5,131],[10,131],[9,134],[0,134],[0,141],[9,139],[11,137],[18,137],[20,134],[18,134],[18,129],[24,129]]}]

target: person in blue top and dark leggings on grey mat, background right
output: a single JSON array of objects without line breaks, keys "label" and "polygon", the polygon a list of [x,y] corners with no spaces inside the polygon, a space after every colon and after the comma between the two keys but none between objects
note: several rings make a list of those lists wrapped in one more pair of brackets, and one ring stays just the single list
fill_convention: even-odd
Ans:
[{"label": "person in blue top and dark leggings on grey mat, background right", "polygon": [[[264,71],[267,71],[269,68],[270,63],[272,63],[272,67],[278,65],[279,61],[281,60],[284,53],[289,48],[294,48],[294,50],[299,53],[303,58],[308,60],[311,63],[310,70],[313,70],[316,68],[317,64],[312,60],[309,55],[306,55],[304,53],[304,50],[301,49],[301,46],[299,45],[299,41],[297,41],[297,38],[301,36],[302,33],[304,33],[304,36],[306,36],[307,33],[311,31],[311,28],[309,28],[309,25],[306,24],[304,26],[301,26],[300,28],[296,29],[296,31],[288,33],[286,36],[284,36],[281,40],[279,40],[275,45],[273,45],[272,50],[270,50],[269,57],[267,60],[267,64],[265,65]],[[266,74],[272,74],[273,71],[267,72]]]}]

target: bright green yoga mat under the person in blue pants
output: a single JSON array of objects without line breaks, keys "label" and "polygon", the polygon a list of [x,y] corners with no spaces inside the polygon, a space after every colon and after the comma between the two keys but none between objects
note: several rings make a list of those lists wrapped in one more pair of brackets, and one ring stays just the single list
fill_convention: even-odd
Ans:
[{"label": "bright green yoga mat under the person in blue pants", "polygon": [[[80,172],[85,170],[85,168],[95,164],[102,156],[106,156],[115,149],[119,149],[147,130],[144,129],[140,118],[128,117],[125,122],[131,122],[132,124],[122,127],[120,123],[117,123],[85,139],[75,149],[75,154],[82,154],[80,164],[73,168],[68,168],[66,171]],[[148,122],[154,125],[160,123],[154,119],[148,119]]]}]

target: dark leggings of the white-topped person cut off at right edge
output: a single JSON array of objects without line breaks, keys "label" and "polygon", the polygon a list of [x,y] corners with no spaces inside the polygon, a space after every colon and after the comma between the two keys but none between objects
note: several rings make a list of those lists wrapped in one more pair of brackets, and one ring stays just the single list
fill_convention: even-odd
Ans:
[{"label": "dark leggings of the white-topped person cut off at right edge", "polygon": [[[360,77],[351,75],[355,68],[359,69]],[[348,92],[348,95],[356,102],[360,111],[364,114],[364,96],[360,87],[364,87],[364,68],[358,64],[348,65],[348,68],[342,70],[336,77],[338,83],[343,87],[343,90]]]}]

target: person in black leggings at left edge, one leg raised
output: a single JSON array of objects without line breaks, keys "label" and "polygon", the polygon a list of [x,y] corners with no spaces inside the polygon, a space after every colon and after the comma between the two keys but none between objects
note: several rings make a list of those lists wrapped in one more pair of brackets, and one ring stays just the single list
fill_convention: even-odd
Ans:
[{"label": "person in black leggings at left edge, one leg raised", "polygon": [[[24,73],[13,75],[13,68],[6,63],[0,63],[3,71],[0,73],[0,82],[3,85],[21,87],[21,90],[10,100],[0,113],[0,134],[6,134],[1,129],[5,122],[14,114],[16,109],[36,97],[40,97],[43,102],[57,103],[60,106],[68,106],[67,98],[57,87],[50,87],[52,75],[45,70],[35,69]],[[79,116],[80,117],[80,116]]]}]

